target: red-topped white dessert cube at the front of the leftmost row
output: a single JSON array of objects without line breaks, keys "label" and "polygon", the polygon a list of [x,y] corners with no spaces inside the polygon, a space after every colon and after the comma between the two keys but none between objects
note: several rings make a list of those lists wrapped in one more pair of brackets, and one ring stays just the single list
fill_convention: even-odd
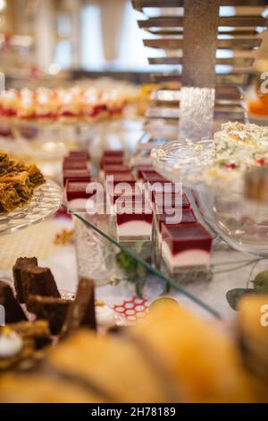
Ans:
[{"label": "red-topped white dessert cube at the front of the leftmost row", "polygon": [[[87,205],[90,206],[90,197],[95,196],[96,189],[92,184],[90,193],[87,193],[90,183],[83,181],[71,181],[67,180],[65,186],[66,199],[68,204],[68,210],[73,212],[85,212],[87,211]],[[93,203],[94,204],[94,203]]]}]

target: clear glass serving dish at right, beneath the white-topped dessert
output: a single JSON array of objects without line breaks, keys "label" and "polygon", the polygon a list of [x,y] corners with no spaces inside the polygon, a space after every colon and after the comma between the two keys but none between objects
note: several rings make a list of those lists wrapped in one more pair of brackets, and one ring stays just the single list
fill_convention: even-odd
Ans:
[{"label": "clear glass serving dish at right, beneath the white-topped dessert", "polygon": [[193,191],[205,221],[231,247],[268,257],[268,206],[244,196],[244,175],[232,179],[205,176],[214,159],[211,140],[167,142],[152,150],[155,169]]}]

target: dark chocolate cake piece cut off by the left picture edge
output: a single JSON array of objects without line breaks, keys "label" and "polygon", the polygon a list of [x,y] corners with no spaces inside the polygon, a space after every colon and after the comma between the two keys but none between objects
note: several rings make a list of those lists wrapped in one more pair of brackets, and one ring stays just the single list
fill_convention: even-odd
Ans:
[{"label": "dark chocolate cake piece cut off by the left picture edge", "polygon": [[13,289],[4,280],[0,280],[0,305],[4,306],[4,322],[15,323],[27,320],[18,301],[13,295]]}]

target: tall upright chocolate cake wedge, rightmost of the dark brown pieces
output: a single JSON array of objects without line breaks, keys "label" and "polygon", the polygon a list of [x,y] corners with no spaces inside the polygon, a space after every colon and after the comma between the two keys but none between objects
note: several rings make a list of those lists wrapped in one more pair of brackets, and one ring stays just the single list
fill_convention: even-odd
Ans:
[{"label": "tall upright chocolate cake wedge, rightmost of the dark brown pieces", "polygon": [[87,278],[80,278],[75,299],[63,324],[62,336],[67,336],[80,326],[96,330],[94,282]]}]

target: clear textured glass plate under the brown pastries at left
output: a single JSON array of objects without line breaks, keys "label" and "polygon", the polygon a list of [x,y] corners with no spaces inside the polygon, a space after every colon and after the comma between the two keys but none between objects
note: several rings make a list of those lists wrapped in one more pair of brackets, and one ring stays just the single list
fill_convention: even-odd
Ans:
[{"label": "clear textured glass plate under the brown pastries at left", "polygon": [[52,180],[46,180],[34,190],[29,203],[8,213],[0,213],[0,236],[37,224],[54,214],[63,202],[63,190]]}]

